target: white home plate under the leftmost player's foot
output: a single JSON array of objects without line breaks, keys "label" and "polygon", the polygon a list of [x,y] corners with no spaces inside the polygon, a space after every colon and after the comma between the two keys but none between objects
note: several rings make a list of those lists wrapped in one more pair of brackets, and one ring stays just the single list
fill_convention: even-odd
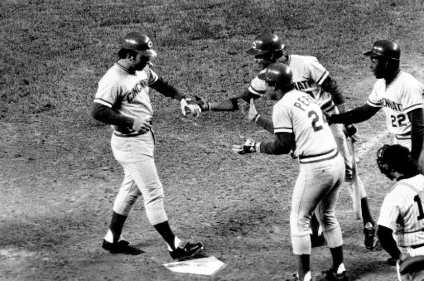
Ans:
[{"label": "white home plate under the leftmost player's foot", "polygon": [[178,273],[212,276],[218,270],[224,268],[225,264],[215,256],[209,256],[201,259],[163,264],[163,266]]}]

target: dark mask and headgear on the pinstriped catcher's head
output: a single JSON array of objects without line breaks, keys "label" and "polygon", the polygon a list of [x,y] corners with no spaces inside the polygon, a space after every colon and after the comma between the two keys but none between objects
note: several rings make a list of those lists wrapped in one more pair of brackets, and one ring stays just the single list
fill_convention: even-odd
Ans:
[{"label": "dark mask and headgear on the pinstriped catcher's head", "polygon": [[389,179],[395,177],[392,172],[409,174],[413,161],[409,149],[401,145],[384,145],[377,151],[377,164],[380,171]]}]

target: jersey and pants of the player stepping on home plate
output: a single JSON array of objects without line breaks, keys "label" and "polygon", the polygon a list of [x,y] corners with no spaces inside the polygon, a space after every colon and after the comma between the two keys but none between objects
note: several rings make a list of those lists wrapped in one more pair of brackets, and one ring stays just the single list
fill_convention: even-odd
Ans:
[{"label": "jersey and pants of the player stepping on home plate", "polygon": [[[147,65],[131,73],[115,63],[99,81],[94,102],[108,106],[131,118],[151,117],[149,85],[158,76]],[[168,220],[163,207],[163,188],[153,159],[152,131],[140,134],[128,127],[112,126],[111,147],[124,168],[125,177],[113,204],[115,213],[128,216],[135,200],[143,195],[146,215],[152,225]]]}]

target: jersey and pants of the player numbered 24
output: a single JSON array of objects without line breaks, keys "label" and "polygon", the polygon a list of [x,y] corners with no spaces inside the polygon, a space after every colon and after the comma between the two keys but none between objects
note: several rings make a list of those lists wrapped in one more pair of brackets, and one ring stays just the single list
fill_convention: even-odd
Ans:
[{"label": "jersey and pants of the player numbered 24", "polygon": [[273,108],[275,133],[293,133],[300,172],[290,215],[291,239],[295,254],[310,254],[309,222],[316,210],[329,247],[343,244],[335,204],[344,179],[343,160],[323,113],[307,93],[291,90]]}]

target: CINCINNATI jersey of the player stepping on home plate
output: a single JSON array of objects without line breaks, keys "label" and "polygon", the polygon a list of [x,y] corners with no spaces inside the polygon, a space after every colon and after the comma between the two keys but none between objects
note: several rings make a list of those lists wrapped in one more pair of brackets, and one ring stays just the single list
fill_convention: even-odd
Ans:
[{"label": "CINCINNATI jersey of the player stepping on home plate", "polygon": [[[149,85],[158,80],[156,73],[147,65],[142,71],[130,73],[115,63],[100,79],[94,102],[117,110],[131,118],[152,116]],[[111,125],[116,134],[136,134],[131,128]]]}]

